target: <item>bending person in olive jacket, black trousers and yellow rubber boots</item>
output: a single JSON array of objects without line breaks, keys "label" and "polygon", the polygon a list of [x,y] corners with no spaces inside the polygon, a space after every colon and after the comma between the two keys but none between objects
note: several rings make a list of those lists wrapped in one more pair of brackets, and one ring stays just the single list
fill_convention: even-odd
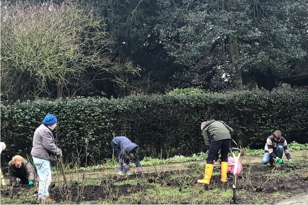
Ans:
[{"label": "bending person in olive jacket, black trousers and yellow rubber boots", "polygon": [[220,149],[221,182],[227,182],[228,153],[234,130],[223,121],[216,120],[201,123],[201,130],[205,145],[209,147],[209,152],[206,159],[204,178],[198,180],[198,183],[210,184],[214,169],[214,160]]}]

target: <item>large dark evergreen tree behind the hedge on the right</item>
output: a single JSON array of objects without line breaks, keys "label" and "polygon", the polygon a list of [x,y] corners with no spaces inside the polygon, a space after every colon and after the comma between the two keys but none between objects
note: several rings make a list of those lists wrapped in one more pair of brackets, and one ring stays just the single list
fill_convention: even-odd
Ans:
[{"label": "large dark evergreen tree behind the hedge on the right", "polygon": [[[232,87],[238,70],[250,79],[256,72],[281,78],[305,70],[307,1],[158,0],[158,5],[160,40],[175,63],[186,66],[177,70],[183,80],[178,87],[219,91]],[[237,48],[230,47],[234,39]]]}]

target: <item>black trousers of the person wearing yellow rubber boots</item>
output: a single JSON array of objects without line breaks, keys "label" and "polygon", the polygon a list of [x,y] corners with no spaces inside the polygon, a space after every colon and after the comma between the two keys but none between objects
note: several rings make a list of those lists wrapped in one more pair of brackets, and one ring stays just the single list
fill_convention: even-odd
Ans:
[{"label": "black trousers of the person wearing yellow rubber boots", "polygon": [[224,139],[211,142],[209,153],[206,158],[206,164],[214,164],[214,160],[218,155],[219,150],[221,162],[228,162],[228,153],[231,144],[231,139]]}]

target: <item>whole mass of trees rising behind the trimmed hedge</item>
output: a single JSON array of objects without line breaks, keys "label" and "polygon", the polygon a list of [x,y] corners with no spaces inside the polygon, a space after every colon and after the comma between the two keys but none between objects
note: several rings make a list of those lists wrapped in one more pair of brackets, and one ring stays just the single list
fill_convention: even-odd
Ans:
[{"label": "whole mass of trees rising behind the trimmed hedge", "polygon": [[[21,2],[5,3],[14,6]],[[36,5],[26,12],[30,16],[39,11],[43,2],[50,3],[26,2]],[[52,1],[60,7],[70,3]],[[25,46],[31,52],[20,50],[25,42],[23,37],[17,35],[14,26],[5,27],[5,15],[1,15],[2,99],[78,95],[111,98],[132,93],[165,93],[177,87],[241,91],[255,87],[255,82],[271,90],[279,84],[278,79],[308,73],[306,0],[78,0],[75,5],[90,12],[78,14],[78,18],[62,15],[59,25],[77,26],[74,19],[82,15],[81,19],[89,20],[79,21],[80,30],[66,26],[68,30],[61,35],[45,35],[49,38],[45,48],[54,48],[47,49],[54,59],[59,47],[50,41],[56,39],[52,35],[72,43],[62,43],[62,47],[66,45],[63,48],[75,48],[71,53],[69,49],[60,50],[66,57],[49,61],[56,62],[52,66],[44,61],[35,64],[33,59],[22,56],[34,54],[35,43]],[[53,20],[47,21],[57,22]],[[44,27],[31,25],[29,22],[35,22],[32,20],[27,22],[25,28],[32,29],[31,32]],[[78,32],[69,32],[69,28]],[[10,32],[15,34],[8,35]],[[41,36],[43,33],[37,32]],[[78,38],[67,41],[69,38],[64,34]],[[36,37],[39,39],[39,35]],[[9,46],[5,45],[16,46],[22,60],[15,61],[19,55],[9,57]],[[57,74],[51,75],[52,69]]]}]

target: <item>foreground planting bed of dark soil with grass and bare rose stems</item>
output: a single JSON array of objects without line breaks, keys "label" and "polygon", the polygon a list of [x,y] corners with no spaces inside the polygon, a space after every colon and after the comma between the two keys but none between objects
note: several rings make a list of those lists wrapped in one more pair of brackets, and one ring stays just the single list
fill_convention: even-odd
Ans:
[{"label": "foreground planting bed of dark soil with grass and bare rose stems", "polygon": [[[239,204],[273,204],[308,192],[308,180],[299,177],[308,172],[306,165],[303,162],[297,166],[244,166],[237,185]],[[210,184],[203,186],[197,184],[203,174],[204,166],[192,166],[188,170],[106,177],[100,179],[100,185],[86,185],[82,193],[77,183],[69,184],[66,194],[63,188],[53,184],[49,193],[57,204],[74,204],[78,198],[81,202],[94,204],[229,204],[233,181],[221,183],[220,167],[215,167]],[[28,188],[13,189],[12,194],[16,199],[24,198]],[[35,194],[37,187],[29,191]],[[9,196],[1,192],[1,197],[8,199]],[[18,201],[5,202],[18,204]]]}]

